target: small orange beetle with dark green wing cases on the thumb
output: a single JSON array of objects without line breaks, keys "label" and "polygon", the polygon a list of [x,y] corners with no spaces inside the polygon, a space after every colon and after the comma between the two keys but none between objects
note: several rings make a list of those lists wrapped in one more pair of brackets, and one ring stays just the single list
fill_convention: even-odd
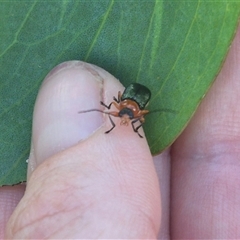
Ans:
[{"label": "small orange beetle with dark green wing cases on the thumb", "polygon": [[[90,109],[86,111],[80,111],[78,113],[86,113],[91,111],[98,111],[102,113],[108,114],[112,127],[106,131],[105,133],[110,133],[116,126],[111,116],[121,118],[120,125],[128,126],[129,122],[131,122],[133,131],[138,134],[140,138],[143,136],[138,132],[139,128],[142,127],[145,122],[144,116],[149,113],[149,110],[145,109],[151,98],[151,91],[142,84],[132,83],[130,84],[123,93],[118,92],[118,97],[113,97],[113,102],[109,105],[106,105],[104,102],[100,102],[107,109],[111,109],[113,105],[117,111],[102,111],[99,109]],[[135,127],[136,122],[140,122],[140,124]]]}]

